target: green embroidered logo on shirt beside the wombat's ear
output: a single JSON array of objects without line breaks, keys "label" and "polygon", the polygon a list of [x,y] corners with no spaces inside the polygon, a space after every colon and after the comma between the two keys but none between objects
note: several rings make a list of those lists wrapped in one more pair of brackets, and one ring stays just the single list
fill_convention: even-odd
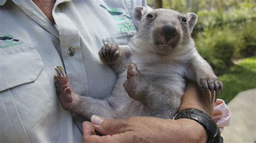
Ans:
[{"label": "green embroidered logo on shirt beside the wombat's ear", "polygon": [[132,18],[119,9],[107,9],[104,5],[100,4],[100,7],[110,13],[112,19],[116,20],[119,32],[136,31],[134,24],[131,22]]}]

